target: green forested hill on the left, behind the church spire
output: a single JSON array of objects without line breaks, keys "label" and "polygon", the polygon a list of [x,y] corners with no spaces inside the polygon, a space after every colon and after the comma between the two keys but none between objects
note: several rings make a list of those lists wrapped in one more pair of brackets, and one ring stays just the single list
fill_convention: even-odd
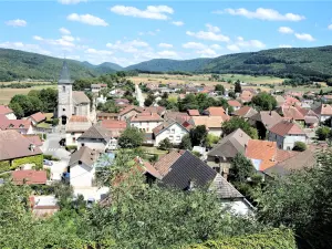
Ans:
[{"label": "green forested hill on the left, behind the church spire", "polygon": [[[0,49],[0,81],[24,79],[58,80],[63,59],[19,50]],[[115,70],[106,65],[94,66],[68,60],[72,79],[97,76]]]}]

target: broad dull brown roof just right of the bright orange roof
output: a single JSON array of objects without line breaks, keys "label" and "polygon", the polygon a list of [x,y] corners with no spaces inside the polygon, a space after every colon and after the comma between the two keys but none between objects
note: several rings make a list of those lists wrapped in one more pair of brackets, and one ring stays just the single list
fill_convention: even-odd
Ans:
[{"label": "broad dull brown roof just right of the bright orange roof", "polygon": [[274,166],[263,170],[263,173],[270,177],[287,176],[294,170],[312,168],[315,164],[314,152],[309,148],[305,152],[297,153],[294,156],[277,163]]}]

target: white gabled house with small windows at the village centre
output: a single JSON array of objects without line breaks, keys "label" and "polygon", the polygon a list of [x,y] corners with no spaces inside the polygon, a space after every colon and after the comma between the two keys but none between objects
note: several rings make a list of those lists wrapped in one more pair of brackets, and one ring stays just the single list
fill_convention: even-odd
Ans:
[{"label": "white gabled house with small windows at the village centre", "polygon": [[160,141],[168,138],[174,145],[179,145],[183,137],[189,134],[188,129],[176,121],[168,120],[153,129],[155,146],[158,146]]}]

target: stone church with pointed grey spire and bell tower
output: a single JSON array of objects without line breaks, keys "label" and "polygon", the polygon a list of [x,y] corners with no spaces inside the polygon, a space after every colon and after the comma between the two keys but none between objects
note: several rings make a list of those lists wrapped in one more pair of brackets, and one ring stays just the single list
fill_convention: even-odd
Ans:
[{"label": "stone church with pointed grey spire and bell tower", "polygon": [[58,82],[58,118],[62,125],[65,125],[73,115],[91,117],[90,98],[84,92],[73,91],[73,83],[64,61]]}]

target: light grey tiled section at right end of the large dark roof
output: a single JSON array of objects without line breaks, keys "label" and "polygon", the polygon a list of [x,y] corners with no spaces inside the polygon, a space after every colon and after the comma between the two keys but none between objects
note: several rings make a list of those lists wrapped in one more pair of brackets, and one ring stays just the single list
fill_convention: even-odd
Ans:
[{"label": "light grey tiled section at right end of the large dark roof", "polygon": [[210,188],[215,190],[220,199],[245,198],[230,183],[220,174],[217,174]]}]

